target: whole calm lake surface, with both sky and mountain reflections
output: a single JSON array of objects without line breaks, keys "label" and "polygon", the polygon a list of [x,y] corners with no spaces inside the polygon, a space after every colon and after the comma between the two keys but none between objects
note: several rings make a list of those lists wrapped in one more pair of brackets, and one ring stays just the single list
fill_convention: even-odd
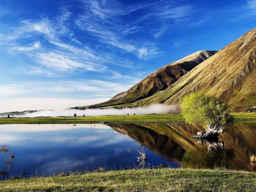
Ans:
[{"label": "whole calm lake surface, with both sky and mountain reflections", "polygon": [[134,145],[144,146],[148,166],[256,170],[256,124],[226,128],[219,141],[203,143],[191,137],[202,130],[170,125],[0,125],[0,144],[15,154],[13,165],[0,157],[0,179],[75,171],[126,169],[138,165]]}]

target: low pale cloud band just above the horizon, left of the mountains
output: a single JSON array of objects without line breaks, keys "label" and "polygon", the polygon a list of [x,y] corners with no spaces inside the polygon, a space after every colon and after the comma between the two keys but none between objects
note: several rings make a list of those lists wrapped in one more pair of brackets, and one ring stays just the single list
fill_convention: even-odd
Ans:
[{"label": "low pale cloud band just above the horizon, left of the mountains", "polygon": [[[40,70],[40,69],[38,69]],[[100,93],[100,95],[114,96],[119,92],[128,90],[136,81],[112,82],[103,80],[75,80],[55,82],[21,82],[14,84],[2,84],[0,86],[0,98],[18,97],[24,95],[63,95],[66,93],[77,93],[77,96],[84,96],[87,93]]]}]

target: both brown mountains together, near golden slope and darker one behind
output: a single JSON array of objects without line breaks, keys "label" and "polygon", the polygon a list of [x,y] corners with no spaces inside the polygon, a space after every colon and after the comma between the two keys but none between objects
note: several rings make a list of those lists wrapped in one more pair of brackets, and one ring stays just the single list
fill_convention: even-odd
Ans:
[{"label": "both brown mountains together, near golden slope and darker one behind", "polygon": [[178,104],[183,96],[199,90],[226,102],[234,112],[255,108],[256,28],[215,53],[195,52],[107,102],[76,108]]}]

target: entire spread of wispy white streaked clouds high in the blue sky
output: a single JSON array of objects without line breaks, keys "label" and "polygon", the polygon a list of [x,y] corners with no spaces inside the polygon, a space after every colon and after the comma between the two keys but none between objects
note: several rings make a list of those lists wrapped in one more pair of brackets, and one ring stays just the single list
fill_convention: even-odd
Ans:
[{"label": "entire spread of wispy white streaked clouds high in the blue sky", "polygon": [[[169,25],[196,12],[191,5],[174,5],[167,1],[130,5],[108,0],[79,2],[82,12],[61,7],[55,17],[22,20],[20,26],[9,33],[0,34],[1,49],[13,55],[29,56],[35,64],[28,70],[30,74],[54,76],[79,70],[104,72],[112,78],[121,78],[124,75],[113,72],[115,70],[109,66],[132,69],[134,64],[120,53],[135,55],[139,60],[160,55],[162,51],[152,38],[159,38],[169,30]],[[135,21],[129,20],[133,14],[136,14]],[[132,35],[138,32],[147,33],[147,23],[152,24],[148,32],[151,37],[134,38]],[[90,46],[88,38],[96,43]]]}]

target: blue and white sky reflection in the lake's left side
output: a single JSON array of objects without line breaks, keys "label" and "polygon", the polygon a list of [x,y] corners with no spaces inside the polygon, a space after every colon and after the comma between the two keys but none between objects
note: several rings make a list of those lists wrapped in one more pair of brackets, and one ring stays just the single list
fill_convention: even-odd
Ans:
[{"label": "blue and white sky reflection in the lake's left side", "polygon": [[[139,144],[106,125],[3,125],[0,133],[0,143],[8,145],[15,154],[15,166],[8,171],[8,177],[138,165],[133,147]],[[165,162],[147,148],[145,153],[150,165]],[[0,158],[0,166],[3,164]]]}]

